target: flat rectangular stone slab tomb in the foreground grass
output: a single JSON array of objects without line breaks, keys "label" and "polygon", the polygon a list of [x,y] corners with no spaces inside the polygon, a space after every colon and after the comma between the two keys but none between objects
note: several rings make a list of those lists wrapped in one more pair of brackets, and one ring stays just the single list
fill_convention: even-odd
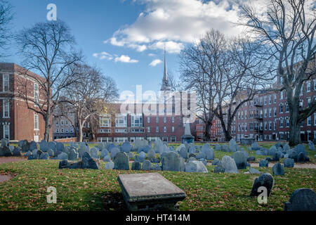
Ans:
[{"label": "flat rectangular stone slab tomb in the foreground grass", "polygon": [[158,173],[121,174],[117,181],[131,211],[178,210],[185,192]]}]

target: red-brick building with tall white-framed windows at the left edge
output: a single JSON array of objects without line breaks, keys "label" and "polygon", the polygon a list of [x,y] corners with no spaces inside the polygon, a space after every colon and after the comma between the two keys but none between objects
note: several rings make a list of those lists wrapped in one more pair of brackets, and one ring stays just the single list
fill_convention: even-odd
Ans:
[{"label": "red-brick building with tall white-framed windows at the left edge", "polygon": [[29,110],[25,100],[18,97],[18,88],[21,82],[25,81],[29,98],[35,98],[39,103],[43,101],[39,84],[34,77],[43,79],[33,72],[25,73],[25,69],[15,63],[0,63],[0,139],[44,139],[43,117]]}]

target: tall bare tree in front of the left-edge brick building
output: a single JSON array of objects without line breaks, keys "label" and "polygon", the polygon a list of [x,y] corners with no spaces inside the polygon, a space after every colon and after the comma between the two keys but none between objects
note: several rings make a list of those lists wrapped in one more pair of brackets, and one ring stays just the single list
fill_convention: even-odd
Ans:
[{"label": "tall bare tree in front of the left-edge brick building", "polygon": [[[43,116],[44,140],[49,141],[51,116],[60,91],[74,82],[75,76],[69,68],[79,63],[82,57],[73,49],[75,41],[70,28],[60,20],[37,23],[20,31],[15,39],[25,68],[18,82],[18,96],[25,100],[27,108]],[[40,76],[28,79],[28,70]]]}]

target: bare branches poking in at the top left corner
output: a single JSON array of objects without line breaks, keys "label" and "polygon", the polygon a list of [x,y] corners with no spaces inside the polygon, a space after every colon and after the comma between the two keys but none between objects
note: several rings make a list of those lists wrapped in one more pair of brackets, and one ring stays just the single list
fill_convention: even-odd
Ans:
[{"label": "bare branches poking in at the top left corner", "polygon": [[[6,50],[8,40],[11,37],[9,30],[11,21],[13,20],[13,6],[6,0],[0,0],[0,49]],[[0,53],[0,57],[4,57],[4,53]]]}]

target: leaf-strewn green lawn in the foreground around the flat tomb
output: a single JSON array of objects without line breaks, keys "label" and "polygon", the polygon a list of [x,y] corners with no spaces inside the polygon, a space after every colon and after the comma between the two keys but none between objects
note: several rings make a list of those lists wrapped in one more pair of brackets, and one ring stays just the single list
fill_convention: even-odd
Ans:
[{"label": "leaf-strewn green lawn in the foreground around the flat tomb", "polygon": [[[215,151],[216,158],[220,158]],[[127,210],[117,182],[119,174],[142,173],[103,169],[58,169],[59,160],[27,160],[0,164],[0,174],[13,179],[0,184],[0,210]],[[258,175],[159,172],[185,191],[180,210],[283,210],[297,188],[316,190],[316,169],[284,168],[285,176],[274,176],[275,186],[268,204],[249,197]],[[272,168],[256,168],[272,174]],[[153,171],[151,171],[153,172]],[[57,203],[48,204],[49,186],[57,189]]]}]

